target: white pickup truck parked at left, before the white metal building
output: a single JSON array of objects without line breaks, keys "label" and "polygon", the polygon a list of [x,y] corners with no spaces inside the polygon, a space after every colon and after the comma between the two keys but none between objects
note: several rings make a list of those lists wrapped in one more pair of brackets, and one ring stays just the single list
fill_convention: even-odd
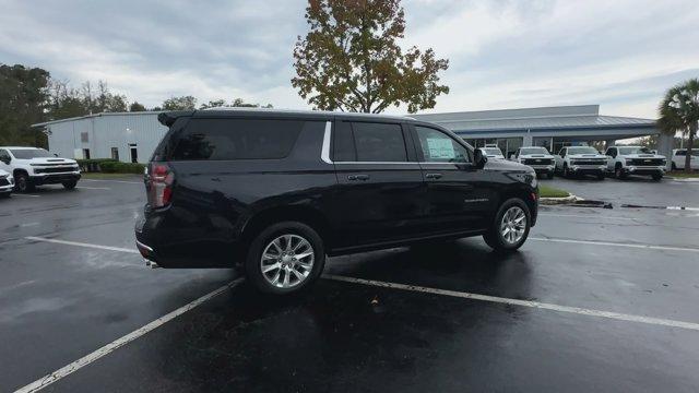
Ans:
[{"label": "white pickup truck parked at left, before the white metal building", "polygon": [[63,184],[71,190],[80,180],[74,159],[59,158],[36,147],[0,146],[0,169],[12,174],[19,192],[32,191],[42,184]]}]

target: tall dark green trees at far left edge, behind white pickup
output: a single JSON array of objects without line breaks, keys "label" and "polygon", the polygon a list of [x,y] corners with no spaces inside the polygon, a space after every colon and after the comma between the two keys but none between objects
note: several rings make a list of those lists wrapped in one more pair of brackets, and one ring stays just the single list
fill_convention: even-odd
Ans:
[{"label": "tall dark green trees at far left edge, behind white pickup", "polygon": [[0,145],[46,147],[46,135],[32,124],[46,120],[49,72],[0,64]]}]

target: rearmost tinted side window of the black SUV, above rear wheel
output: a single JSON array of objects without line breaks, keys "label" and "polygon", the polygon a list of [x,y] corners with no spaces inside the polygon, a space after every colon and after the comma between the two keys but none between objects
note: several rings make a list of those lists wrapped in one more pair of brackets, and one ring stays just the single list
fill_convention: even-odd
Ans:
[{"label": "rearmost tinted side window of the black SUV, above rear wheel", "polygon": [[286,157],[301,120],[191,119],[170,159],[270,159]]}]

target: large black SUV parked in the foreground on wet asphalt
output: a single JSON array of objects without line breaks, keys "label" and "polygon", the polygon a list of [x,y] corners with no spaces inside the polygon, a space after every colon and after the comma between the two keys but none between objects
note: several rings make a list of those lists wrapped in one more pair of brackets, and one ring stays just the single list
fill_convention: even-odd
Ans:
[{"label": "large black SUV parked in the foreground on wet asphalt", "polygon": [[325,255],[483,235],[518,249],[536,222],[534,170],[487,159],[407,117],[281,110],[161,114],[137,246],[163,267],[242,266],[292,293]]}]

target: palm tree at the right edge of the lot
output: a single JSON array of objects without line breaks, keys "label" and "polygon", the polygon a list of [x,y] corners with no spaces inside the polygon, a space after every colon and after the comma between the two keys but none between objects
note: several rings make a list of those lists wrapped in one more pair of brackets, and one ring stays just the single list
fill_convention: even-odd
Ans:
[{"label": "palm tree at the right edge of the lot", "polygon": [[691,147],[699,128],[699,79],[691,79],[667,91],[660,104],[657,126],[663,133],[675,135],[682,132],[687,136],[687,156],[685,171],[691,171]]}]

